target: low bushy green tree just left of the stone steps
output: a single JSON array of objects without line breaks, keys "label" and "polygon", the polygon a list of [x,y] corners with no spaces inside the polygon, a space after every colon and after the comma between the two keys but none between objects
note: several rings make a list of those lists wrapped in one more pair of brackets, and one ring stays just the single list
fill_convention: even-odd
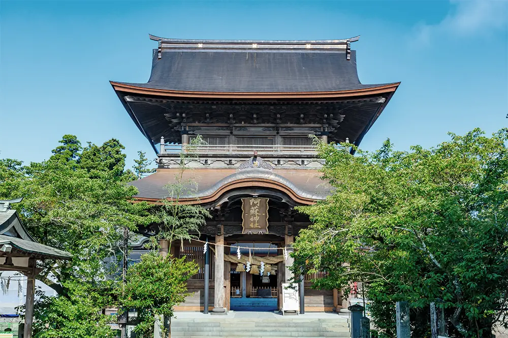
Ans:
[{"label": "low bushy green tree just left of the stone steps", "polygon": [[122,308],[137,309],[139,323],[135,332],[138,337],[153,337],[157,316],[173,316],[173,307],[183,303],[189,294],[187,279],[197,271],[194,261],[161,256],[155,250],[142,255],[141,261],[129,268],[126,283],[117,286],[116,294]]}]

